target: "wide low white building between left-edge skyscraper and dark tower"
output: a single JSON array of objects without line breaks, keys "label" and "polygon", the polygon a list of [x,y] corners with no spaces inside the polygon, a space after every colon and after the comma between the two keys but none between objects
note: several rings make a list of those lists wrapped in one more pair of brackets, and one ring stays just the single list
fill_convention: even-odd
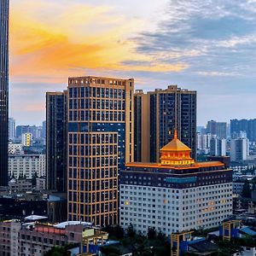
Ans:
[{"label": "wide low white building between left-edge skyscraper and dark tower", "polygon": [[32,178],[35,173],[46,175],[45,154],[9,154],[9,177]]}]

